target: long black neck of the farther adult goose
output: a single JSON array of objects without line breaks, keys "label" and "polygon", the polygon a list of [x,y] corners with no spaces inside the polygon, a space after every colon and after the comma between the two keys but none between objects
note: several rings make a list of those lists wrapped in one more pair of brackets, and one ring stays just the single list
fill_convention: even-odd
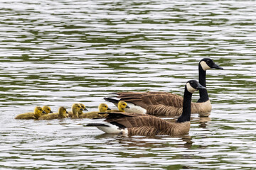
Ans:
[{"label": "long black neck of the farther adult goose", "polygon": [[[203,70],[201,64],[199,64],[199,84],[206,87],[206,71]],[[198,99],[198,103],[206,102],[209,100],[209,96],[206,89],[199,89],[200,98]]]}]

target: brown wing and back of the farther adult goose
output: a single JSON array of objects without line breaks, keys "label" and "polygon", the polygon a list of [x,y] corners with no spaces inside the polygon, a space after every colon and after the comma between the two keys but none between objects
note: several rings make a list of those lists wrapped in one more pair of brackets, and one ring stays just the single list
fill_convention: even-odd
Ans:
[{"label": "brown wing and back of the farther adult goose", "polygon": [[182,107],[183,105],[183,97],[161,91],[121,92],[117,93],[117,98],[120,98],[122,101],[134,103],[145,109],[147,106],[159,104],[174,107]]}]

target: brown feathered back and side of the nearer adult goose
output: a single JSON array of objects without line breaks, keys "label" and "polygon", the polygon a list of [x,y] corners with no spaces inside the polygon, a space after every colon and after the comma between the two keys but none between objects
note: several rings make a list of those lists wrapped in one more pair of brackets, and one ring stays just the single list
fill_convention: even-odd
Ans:
[{"label": "brown feathered back and side of the nearer adult goose", "polygon": [[169,123],[153,115],[139,113],[109,113],[105,121],[121,129],[127,128],[128,135],[181,135],[190,129],[190,122]]}]

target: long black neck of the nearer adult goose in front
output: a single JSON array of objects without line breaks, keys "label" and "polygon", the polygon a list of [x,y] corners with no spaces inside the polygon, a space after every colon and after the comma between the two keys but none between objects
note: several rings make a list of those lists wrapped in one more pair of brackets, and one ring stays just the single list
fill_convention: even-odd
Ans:
[{"label": "long black neck of the nearer adult goose in front", "polygon": [[192,94],[185,88],[183,97],[183,110],[181,116],[178,118],[177,123],[190,121],[191,118],[191,98]]}]

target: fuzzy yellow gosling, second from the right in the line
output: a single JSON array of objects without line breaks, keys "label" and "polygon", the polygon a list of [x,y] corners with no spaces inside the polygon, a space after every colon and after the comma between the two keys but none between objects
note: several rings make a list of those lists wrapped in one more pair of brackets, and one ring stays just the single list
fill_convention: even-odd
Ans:
[{"label": "fuzzy yellow gosling, second from the right in the line", "polygon": [[107,112],[107,110],[110,110],[110,108],[105,103],[100,103],[98,106],[99,111],[92,111],[87,113],[82,113],[79,115],[79,118],[105,118],[107,114],[100,115],[99,113]]}]

